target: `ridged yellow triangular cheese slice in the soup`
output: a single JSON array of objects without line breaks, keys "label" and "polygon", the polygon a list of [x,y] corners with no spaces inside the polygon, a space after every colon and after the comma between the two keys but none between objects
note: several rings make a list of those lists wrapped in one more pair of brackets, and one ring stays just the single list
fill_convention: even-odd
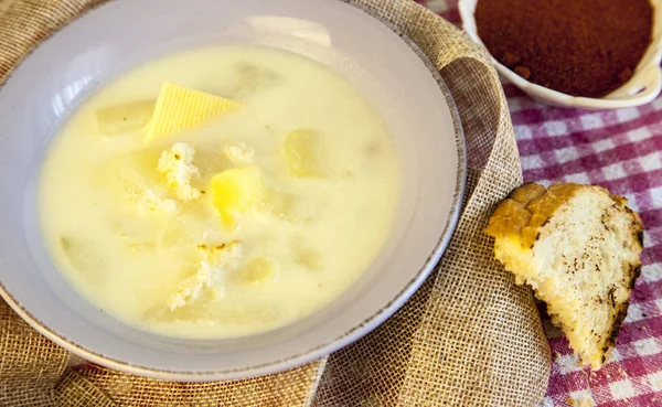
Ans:
[{"label": "ridged yellow triangular cheese slice in the soup", "polygon": [[236,101],[167,82],[161,87],[145,141],[190,129],[239,106]]}]

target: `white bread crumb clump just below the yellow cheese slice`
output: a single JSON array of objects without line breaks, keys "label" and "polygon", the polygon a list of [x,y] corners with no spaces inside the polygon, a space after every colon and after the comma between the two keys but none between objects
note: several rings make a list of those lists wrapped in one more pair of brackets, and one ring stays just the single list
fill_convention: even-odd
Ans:
[{"label": "white bread crumb clump just below the yellow cheese slice", "polygon": [[163,151],[157,170],[168,180],[168,185],[177,196],[186,202],[200,197],[200,191],[191,186],[193,176],[200,176],[200,171],[193,165],[195,149],[186,143],[178,142],[170,150]]}]

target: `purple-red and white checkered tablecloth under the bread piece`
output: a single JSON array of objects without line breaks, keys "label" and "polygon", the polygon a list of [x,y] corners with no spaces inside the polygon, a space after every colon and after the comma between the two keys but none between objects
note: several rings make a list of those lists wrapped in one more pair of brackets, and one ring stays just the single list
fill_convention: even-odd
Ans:
[{"label": "purple-red and white checkered tablecloth under the bread piece", "polygon": [[[459,23],[457,0],[419,0]],[[591,183],[628,197],[643,221],[641,278],[607,365],[581,368],[545,321],[554,357],[541,407],[662,406],[662,96],[639,108],[585,111],[534,101],[504,85],[524,181]]]}]

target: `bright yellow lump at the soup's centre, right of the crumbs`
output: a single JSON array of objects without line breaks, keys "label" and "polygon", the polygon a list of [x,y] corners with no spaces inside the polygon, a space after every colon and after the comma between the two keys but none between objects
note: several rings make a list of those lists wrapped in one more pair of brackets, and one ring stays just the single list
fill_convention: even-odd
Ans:
[{"label": "bright yellow lump at the soup's centre, right of the crumbs", "polygon": [[261,171],[256,165],[232,168],[211,180],[212,204],[223,224],[236,229],[239,217],[253,208],[265,194]]}]

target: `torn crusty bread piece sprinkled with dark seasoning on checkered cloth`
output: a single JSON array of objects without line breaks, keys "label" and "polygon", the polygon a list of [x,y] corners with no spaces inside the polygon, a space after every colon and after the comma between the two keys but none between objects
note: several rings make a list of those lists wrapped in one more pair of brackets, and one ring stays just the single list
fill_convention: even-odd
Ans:
[{"label": "torn crusty bread piece sprinkled with dark seasoning on checkered cloth", "polygon": [[528,183],[499,203],[485,233],[516,283],[534,289],[581,362],[599,369],[641,271],[643,225],[627,200],[600,186]]}]

